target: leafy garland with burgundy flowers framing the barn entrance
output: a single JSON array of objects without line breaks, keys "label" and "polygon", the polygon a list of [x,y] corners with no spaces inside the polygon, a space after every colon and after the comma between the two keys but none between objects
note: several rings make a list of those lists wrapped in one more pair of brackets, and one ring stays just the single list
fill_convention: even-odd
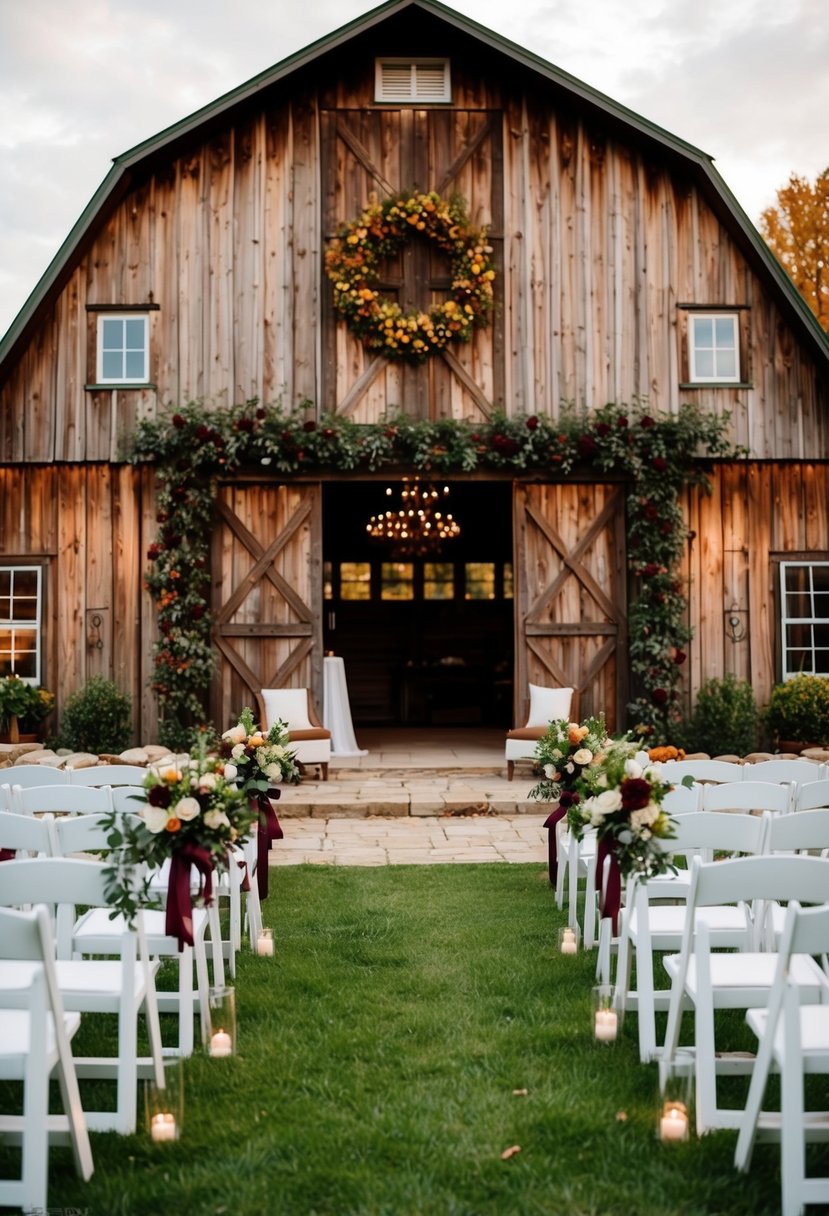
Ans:
[{"label": "leafy garland with burgundy flowers framing the barn entrance", "polygon": [[355,423],[309,417],[255,400],[232,407],[191,401],[139,423],[131,458],[158,466],[158,536],[147,552],[146,584],[158,604],[159,641],[153,691],[160,738],[186,747],[204,721],[214,670],[208,559],[216,480],[243,466],[278,473],[322,469],[472,473],[540,472],[556,478],[574,468],[627,483],[628,565],[636,592],[628,607],[628,654],[635,697],[628,721],[653,743],[671,743],[681,717],[681,668],[690,630],[678,574],[688,530],[678,501],[687,485],[705,485],[700,456],[740,455],[728,440],[729,417],[683,405],[654,413],[645,402],[605,405],[592,415],[497,415],[486,423],[394,417]]}]

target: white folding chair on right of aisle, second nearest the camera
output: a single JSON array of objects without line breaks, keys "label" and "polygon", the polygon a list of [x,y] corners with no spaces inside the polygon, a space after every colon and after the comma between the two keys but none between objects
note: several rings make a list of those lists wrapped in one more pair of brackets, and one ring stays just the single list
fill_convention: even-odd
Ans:
[{"label": "white folding chair on right of aisle, second nearest the camera", "polygon": [[[692,861],[682,946],[678,955],[669,955],[664,959],[672,983],[659,1073],[664,1086],[676,1068],[682,1010],[690,1004],[695,1045],[690,1049],[694,1054],[697,1130],[700,1136],[714,1128],[739,1126],[741,1109],[717,1105],[717,1076],[748,1074],[754,1063],[752,1058],[746,1059],[744,1052],[716,1051],[715,1013],[767,1004],[777,959],[768,952],[712,951],[707,924],[698,917],[698,910],[769,899],[822,903],[827,891],[829,861],[820,857],[738,857],[707,865],[699,858]],[[825,975],[812,958],[794,957],[790,974],[801,990],[801,1000],[808,1003],[820,1000]]]}]

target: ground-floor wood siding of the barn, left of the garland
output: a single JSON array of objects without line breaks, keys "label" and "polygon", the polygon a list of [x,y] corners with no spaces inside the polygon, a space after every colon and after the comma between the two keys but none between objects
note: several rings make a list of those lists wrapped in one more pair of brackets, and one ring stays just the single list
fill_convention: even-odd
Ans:
[{"label": "ground-floor wood siding of the barn, left of the garland", "polygon": [[136,739],[156,734],[142,591],[153,499],[147,468],[0,467],[0,563],[44,568],[43,681],[60,713],[91,676],[114,680],[132,698]]}]

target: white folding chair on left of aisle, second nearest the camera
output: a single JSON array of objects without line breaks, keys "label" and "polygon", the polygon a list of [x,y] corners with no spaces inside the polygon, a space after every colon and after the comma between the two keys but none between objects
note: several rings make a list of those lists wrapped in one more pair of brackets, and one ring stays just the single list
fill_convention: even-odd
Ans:
[{"label": "white folding chair on left of aisle, second nearest the camera", "polygon": [[[72,929],[75,907],[108,908],[103,866],[95,861],[43,857],[4,862],[0,903],[23,906],[47,903],[56,908],[57,983],[63,1007],[78,1013],[118,1015],[118,1054],[75,1060],[79,1077],[114,1077],[114,1109],[86,1111],[86,1124],[94,1131],[118,1131],[131,1135],[136,1125],[139,1073],[154,1071],[163,1083],[160,1026],[156,1001],[154,975],[158,963],[151,963],[143,934],[141,912],[135,930],[126,927],[109,959],[72,958]],[[4,970],[0,967],[0,987]],[[145,1012],[151,1055],[139,1059],[139,1015]]]}]

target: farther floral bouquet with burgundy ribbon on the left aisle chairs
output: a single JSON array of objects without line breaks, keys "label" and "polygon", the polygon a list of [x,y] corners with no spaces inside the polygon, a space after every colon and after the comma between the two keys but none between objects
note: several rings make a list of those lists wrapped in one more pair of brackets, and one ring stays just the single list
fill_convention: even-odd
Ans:
[{"label": "farther floral bouquet with burgundy ribbon on the left aisle chairs", "polygon": [[264,900],[271,841],[283,837],[272,805],[281,796],[277,787],[286,781],[295,786],[301,779],[295,753],[288,747],[287,724],[277,721],[264,733],[246,705],[237,725],[221,736],[219,754],[225,761],[226,779],[236,782],[258,820],[256,884]]}]

